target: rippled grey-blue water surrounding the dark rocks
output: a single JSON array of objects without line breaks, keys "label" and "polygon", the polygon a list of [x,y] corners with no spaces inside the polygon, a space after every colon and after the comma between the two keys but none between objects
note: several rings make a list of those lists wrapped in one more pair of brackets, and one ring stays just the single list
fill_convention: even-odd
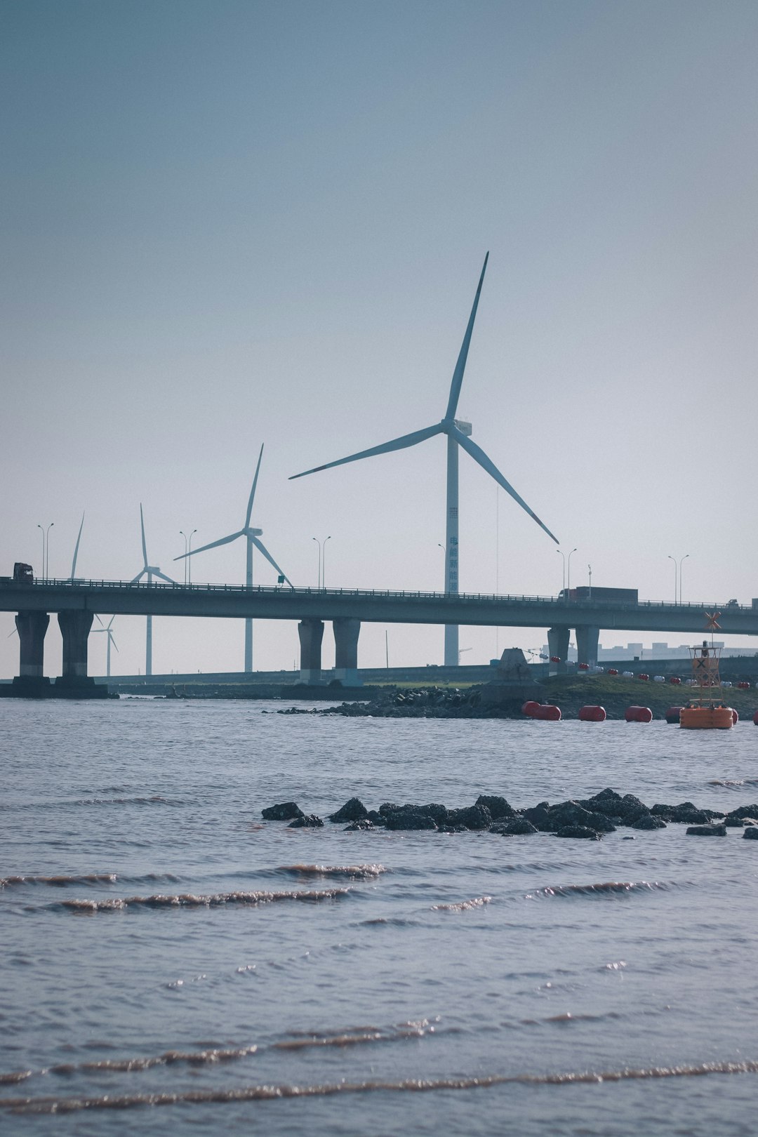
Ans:
[{"label": "rippled grey-blue water surrounding the dark rocks", "polygon": [[741,830],[260,819],[291,798],[325,815],[353,794],[533,805],[606,786],[734,808],[758,799],[751,723],[276,709],[0,704],[3,1131],[755,1131],[758,843]]}]

